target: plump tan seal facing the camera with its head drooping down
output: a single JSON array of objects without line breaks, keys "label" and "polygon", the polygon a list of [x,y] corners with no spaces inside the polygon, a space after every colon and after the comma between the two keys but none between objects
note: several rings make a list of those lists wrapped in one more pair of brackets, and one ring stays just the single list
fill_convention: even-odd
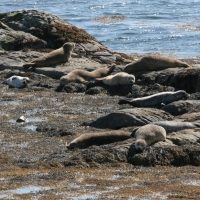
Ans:
[{"label": "plump tan seal facing the camera with its head drooping down", "polygon": [[138,128],[135,132],[135,148],[143,151],[147,146],[166,140],[166,131],[163,127],[147,124]]}]

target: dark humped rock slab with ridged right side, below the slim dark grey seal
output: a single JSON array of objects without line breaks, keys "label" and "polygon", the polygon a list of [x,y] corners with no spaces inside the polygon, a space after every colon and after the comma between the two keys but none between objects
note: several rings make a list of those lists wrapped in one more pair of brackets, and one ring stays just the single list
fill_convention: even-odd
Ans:
[{"label": "dark humped rock slab with ridged right side, below the slim dark grey seal", "polygon": [[170,120],[172,118],[165,111],[154,108],[128,108],[100,117],[89,125],[96,128],[119,129],[129,126],[142,126],[151,122]]}]

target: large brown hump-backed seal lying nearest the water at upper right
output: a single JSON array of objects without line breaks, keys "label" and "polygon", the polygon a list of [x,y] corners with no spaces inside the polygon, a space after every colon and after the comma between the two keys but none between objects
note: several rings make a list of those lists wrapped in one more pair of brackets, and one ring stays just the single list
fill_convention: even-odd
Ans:
[{"label": "large brown hump-backed seal lying nearest the water at upper right", "polygon": [[130,74],[141,71],[157,71],[166,68],[190,67],[185,62],[160,55],[145,56],[140,60],[125,66],[124,71]]}]

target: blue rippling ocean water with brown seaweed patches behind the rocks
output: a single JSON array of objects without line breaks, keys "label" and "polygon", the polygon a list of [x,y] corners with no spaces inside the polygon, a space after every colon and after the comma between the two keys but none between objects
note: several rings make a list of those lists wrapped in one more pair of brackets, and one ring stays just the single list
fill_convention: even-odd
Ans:
[{"label": "blue rippling ocean water with brown seaweed patches behind the rocks", "polygon": [[200,0],[0,0],[0,12],[37,9],[125,53],[200,56]]}]

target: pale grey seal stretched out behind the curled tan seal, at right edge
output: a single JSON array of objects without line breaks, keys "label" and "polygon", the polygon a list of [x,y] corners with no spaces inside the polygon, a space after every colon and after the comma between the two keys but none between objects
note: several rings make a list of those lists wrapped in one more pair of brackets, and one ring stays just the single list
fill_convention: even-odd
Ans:
[{"label": "pale grey seal stretched out behind the curled tan seal, at right edge", "polygon": [[200,123],[197,122],[181,122],[181,121],[158,121],[158,122],[153,122],[151,124],[162,126],[167,131],[167,133],[200,127]]}]

